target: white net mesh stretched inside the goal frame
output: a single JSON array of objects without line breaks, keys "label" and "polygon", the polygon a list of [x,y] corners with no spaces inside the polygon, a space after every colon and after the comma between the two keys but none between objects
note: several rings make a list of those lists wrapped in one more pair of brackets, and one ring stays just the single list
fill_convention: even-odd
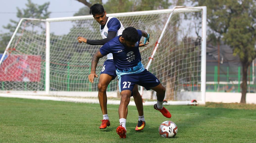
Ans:
[{"label": "white net mesh stretched inside the goal frame", "polygon": [[[133,26],[151,35],[150,44],[140,48],[145,67],[170,13],[111,14],[124,27]],[[201,20],[201,11],[175,11],[148,68],[165,86],[168,100],[179,100],[183,93],[200,92]],[[45,31],[45,21],[22,21],[0,65],[1,75],[5,74],[0,78],[1,90],[45,90]],[[99,24],[92,17],[50,22],[50,91],[98,91],[98,78],[91,84],[88,74],[92,56],[101,46],[80,44],[78,36],[101,39]],[[105,60],[106,56],[100,59],[96,74],[100,74]],[[107,92],[118,91],[116,78]]]}]

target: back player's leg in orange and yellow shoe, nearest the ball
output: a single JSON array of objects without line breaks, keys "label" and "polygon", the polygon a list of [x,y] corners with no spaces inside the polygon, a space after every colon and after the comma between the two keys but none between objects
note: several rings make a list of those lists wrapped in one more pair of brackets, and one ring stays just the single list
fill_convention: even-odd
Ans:
[{"label": "back player's leg in orange and yellow shoe, nearest the ball", "polygon": [[145,122],[144,113],[143,113],[142,98],[141,98],[141,94],[138,91],[137,84],[134,86],[132,93],[133,93],[135,105],[136,105],[138,113],[139,113],[138,124],[135,127],[135,131],[141,131],[145,127],[146,122]]}]

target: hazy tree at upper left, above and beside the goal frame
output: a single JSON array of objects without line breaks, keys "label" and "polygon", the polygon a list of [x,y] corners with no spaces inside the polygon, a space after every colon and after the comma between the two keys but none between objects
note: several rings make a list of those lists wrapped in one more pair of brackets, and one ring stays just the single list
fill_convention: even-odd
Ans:
[{"label": "hazy tree at upper left, above and beside the goal frame", "polygon": [[[37,18],[37,19],[46,19],[49,18],[51,12],[48,12],[48,7],[50,2],[44,3],[42,5],[37,5],[28,0],[26,4],[26,9],[20,9],[17,7],[18,18]],[[18,21],[10,20],[11,23],[3,26],[5,29],[8,29],[8,33],[4,33],[0,35],[0,52],[4,52],[13,32],[15,31]]]}]

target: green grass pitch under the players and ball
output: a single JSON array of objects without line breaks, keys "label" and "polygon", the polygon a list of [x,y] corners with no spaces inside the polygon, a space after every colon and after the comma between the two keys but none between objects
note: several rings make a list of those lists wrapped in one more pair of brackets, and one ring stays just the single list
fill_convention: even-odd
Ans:
[{"label": "green grass pitch under the players and ball", "polygon": [[[127,138],[119,139],[115,132],[119,125],[118,105],[108,105],[111,126],[100,130],[99,104],[0,97],[0,142],[256,141],[255,108],[210,106],[165,106],[172,113],[171,119],[163,117],[153,106],[144,106],[146,126],[142,132],[134,131],[138,113],[135,106],[129,106]],[[166,120],[178,126],[175,138],[160,137],[158,127]]]}]

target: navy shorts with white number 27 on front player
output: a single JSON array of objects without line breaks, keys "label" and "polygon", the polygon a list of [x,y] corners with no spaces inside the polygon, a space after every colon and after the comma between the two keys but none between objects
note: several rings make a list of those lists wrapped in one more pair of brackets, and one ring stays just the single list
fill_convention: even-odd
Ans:
[{"label": "navy shorts with white number 27 on front player", "polygon": [[150,90],[150,88],[159,85],[160,81],[145,69],[140,73],[121,75],[118,83],[120,92],[123,90],[130,90],[132,92],[135,84],[145,87],[146,90]]}]

